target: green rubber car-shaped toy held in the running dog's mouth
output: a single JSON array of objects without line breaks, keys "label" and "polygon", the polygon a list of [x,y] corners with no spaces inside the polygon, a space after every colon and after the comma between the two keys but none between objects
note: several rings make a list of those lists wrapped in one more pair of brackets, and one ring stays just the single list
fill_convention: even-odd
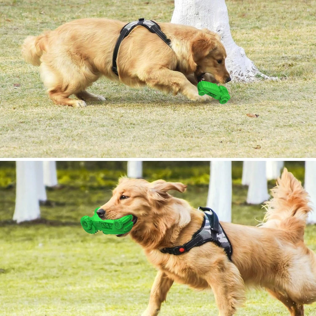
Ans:
[{"label": "green rubber car-shaped toy held in the running dog's mouth", "polygon": [[89,234],[95,234],[101,230],[103,234],[125,234],[128,233],[133,227],[133,216],[126,215],[118,219],[101,220],[97,214],[96,208],[93,216],[82,216],[80,224],[83,229]]}]

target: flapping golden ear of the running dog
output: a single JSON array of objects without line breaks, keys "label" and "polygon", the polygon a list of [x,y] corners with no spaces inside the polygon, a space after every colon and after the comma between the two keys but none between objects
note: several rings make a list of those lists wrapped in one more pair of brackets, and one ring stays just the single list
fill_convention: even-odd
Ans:
[{"label": "flapping golden ear of the running dog", "polygon": [[161,205],[171,197],[167,191],[177,190],[179,192],[184,192],[186,187],[186,185],[180,182],[166,182],[164,180],[157,180],[151,183],[151,187],[149,189],[149,199]]}]

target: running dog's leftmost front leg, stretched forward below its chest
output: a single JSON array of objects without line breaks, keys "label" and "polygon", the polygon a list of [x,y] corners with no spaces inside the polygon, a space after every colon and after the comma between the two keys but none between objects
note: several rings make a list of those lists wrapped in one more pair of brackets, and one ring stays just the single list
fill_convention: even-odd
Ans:
[{"label": "running dog's leftmost front leg, stretched forward below its chest", "polygon": [[150,291],[149,304],[142,316],[156,316],[158,315],[161,303],[166,300],[167,293],[173,284],[164,272],[158,270],[155,281]]}]

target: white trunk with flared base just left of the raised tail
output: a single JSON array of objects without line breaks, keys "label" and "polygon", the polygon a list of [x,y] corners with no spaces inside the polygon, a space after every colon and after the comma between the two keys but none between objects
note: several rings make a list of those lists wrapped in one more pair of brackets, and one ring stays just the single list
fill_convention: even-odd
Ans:
[{"label": "white trunk with flared base just left of the raised tail", "polygon": [[248,188],[247,203],[260,204],[269,199],[266,162],[250,161],[250,183]]}]

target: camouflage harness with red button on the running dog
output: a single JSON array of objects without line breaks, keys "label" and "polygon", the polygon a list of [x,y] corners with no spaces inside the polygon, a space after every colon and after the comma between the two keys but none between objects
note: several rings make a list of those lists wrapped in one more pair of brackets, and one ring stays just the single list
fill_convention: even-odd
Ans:
[{"label": "camouflage harness with red button on the running dog", "polygon": [[220,246],[226,252],[226,255],[230,261],[233,253],[232,245],[222,228],[218,216],[216,213],[208,207],[199,207],[199,210],[204,211],[204,220],[202,227],[192,236],[192,239],[182,246],[163,248],[160,251],[162,253],[170,253],[173,255],[180,255],[189,251],[195,246],[201,246],[208,241],[214,242],[217,246]]}]

